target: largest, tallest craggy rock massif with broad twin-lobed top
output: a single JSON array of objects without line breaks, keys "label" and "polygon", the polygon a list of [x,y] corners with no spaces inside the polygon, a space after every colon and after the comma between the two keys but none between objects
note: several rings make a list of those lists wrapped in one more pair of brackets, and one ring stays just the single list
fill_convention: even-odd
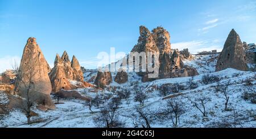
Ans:
[{"label": "largest, tallest craggy rock massif with broad twin-lobed top", "polygon": [[[191,59],[192,55],[189,54],[188,49],[181,51],[174,50],[172,53],[170,44],[170,34],[163,27],[157,27],[148,31],[144,26],[140,27],[140,34],[138,44],[134,46],[133,51],[140,52],[153,52],[159,54],[159,77],[158,79],[169,77],[184,77],[197,75],[195,68],[185,66],[181,58]],[[170,57],[170,55],[172,55]],[[141,66],[141,63],[140,63]],[[142,76],[142,81],[152,81],[155,79],[148,78],[148,71],[138,72],[139,76]]]}]

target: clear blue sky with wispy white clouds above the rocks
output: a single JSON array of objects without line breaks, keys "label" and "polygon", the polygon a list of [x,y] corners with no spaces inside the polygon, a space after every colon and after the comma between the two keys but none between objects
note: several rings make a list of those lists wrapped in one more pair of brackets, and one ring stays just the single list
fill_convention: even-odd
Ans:
[{"label": "clear blue sky with wispy white clouds above the rocks", "polygon": [[139,25],[162,25],[172,48],[192,53],[221,50],[232,28],[241,40],[256,41],[256,2],[225,1],[86,1],[0,0],[0,71],[22,57],[28,37],[36,37],[49,64],[67,50],[85,68],[96,68],[101,51],[128,53]]}]

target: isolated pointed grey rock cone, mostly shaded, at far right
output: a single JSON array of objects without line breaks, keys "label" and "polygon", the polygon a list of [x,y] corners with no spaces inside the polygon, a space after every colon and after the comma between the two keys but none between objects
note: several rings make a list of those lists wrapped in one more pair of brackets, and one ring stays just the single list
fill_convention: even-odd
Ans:
[{"label": "isolated pointed grey rock cone, mostly shaded, at far right", "polygon": [[221,71],[226,68],[235,68],[241,71],[247,71],[248,66],[245,63],[245,51],[243,44],[237,32],[232,29],[226,39],[223,50],[218,57],[216,71]]}]

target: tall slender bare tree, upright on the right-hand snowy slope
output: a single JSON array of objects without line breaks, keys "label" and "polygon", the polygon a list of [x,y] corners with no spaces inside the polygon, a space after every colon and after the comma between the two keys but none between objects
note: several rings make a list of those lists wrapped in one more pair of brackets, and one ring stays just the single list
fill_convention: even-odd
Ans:
[{"label": "tall slender bare tree, upright on the right-hand snowy slope", "polygon": [[228,111],[228,102],[229,102],[229,95],[230,95],[228,92],[229,86],[230,86],[230,80],[220,85],[220,92],[223,95],[221,98],[225,99],[225,111]]}]

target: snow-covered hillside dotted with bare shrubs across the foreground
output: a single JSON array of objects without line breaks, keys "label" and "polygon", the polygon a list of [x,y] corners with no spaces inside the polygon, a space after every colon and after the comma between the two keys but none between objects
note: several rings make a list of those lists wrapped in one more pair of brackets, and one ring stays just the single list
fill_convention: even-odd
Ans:
[{"label": "snow-covered hillside dotted with bare shrubs across the foreground", "polygon": [[[138,120],[136,107],[142,108],[150,120],[151,127],[256,127],[256,104],[250,99],[245,99],[248,86],[255,89],[256,72],[238,71],[228,68],[220,72],[215,71],[217,55],[194,55],[194,60],[184,60],[184,64],[195,67],[200,75],[192,77],[180,77],[175,79],[161,79],[152,82],[141,82],[141,77],[136,73],[129,73],[129,80],[125,84],[112,82],[105,90],[98,92],[100,97],[110,95],[117,96],[117,92],[130,90],[131,95],[127,100],[121,99],[121,105],[117,108],[119,121],[123,127],[141,127],[143,120]],[[84,74],[85,80],[93,82],[92,77],[96,76],[97,71],[91,70]],[[112,73],[115,77],[116,73]],[[204,77],[218,77],[220,81],[211,81],[205,84]],[[196,82],[195,88],[189,88],[189,80]],[[250,82],[250,84],[248,83]],[[228,108],[225,109],[225,96],[220,91],[216,91],[216,86],[229,83],[227,95],[229,97]],[[164,96],[161,88],[164,85],[180,87],[178,92],[170,90]],[[138,90],[146,93],[147,98],[144,105],[135,102],[135,93]],[[97,93],[88,92],[86,89],[77,89],[86,97],[96,97]],[[198,102],[200,98],[205,100],[205,116],[193,102]],[[176,100],[182,104],[183,112],[179,122],[175,126],[170,119],[157,118],[159,111],[166,108],[169,100]],[[57,102],[56,99],[53,101]],[[13,110],[8,115],[0,117],[0,127],[98,127],[94,123],[94,118],[100,115],[101,109],[108,105],[112,99],[102,101],[100,108],[92,107],[91,112],[84,101],[77,99],[60,99],[56,105],[56,110],[39,111],[35,107],[33,110],[39,114],[32,118],[33,124],[27,125],[26,116],[20,110]],[[200,103],[199,107],[202,109]]]}]

